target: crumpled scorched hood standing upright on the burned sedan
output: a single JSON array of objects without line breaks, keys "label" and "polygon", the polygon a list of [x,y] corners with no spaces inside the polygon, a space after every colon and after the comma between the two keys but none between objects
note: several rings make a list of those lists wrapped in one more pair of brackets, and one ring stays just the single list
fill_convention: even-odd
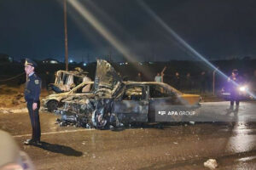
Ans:
[{"label": "crumpled scorched hood standing upright on the burned sedan", "polygon": [[94,90],[102,90],[102,88],[107,89],[110,95],[113,94],[115,89],[119,87],[122,82],[122,78],[119,77],[117,72],[113,69],[106,60],[97,59],[96,75],[94,82]]}]

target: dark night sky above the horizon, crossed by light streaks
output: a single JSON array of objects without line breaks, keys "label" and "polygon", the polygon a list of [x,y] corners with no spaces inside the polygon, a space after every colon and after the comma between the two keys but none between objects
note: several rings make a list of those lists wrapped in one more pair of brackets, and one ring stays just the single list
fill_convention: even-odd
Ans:
[{"label": "dark night sky above the horizon, crossed by light streaks", "polygon": [[[79,0],[102,26],[142,60],[195,59],[137,0]],[[256,1],[145,0],[172,30],[207,59],[256,59]],[[63,61],[62,0],[0,0],[0,53],[15,59]],[[67,3],[69,58],[125,59]]]}]

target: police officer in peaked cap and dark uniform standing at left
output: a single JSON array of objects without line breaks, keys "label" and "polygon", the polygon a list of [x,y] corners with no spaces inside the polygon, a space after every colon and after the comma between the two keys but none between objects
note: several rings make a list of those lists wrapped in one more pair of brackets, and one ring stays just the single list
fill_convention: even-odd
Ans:
[{"label": "police officer in peaked cap and dark uniform standing at left", "polygon": [[24,144],[42,145],[40,142],[41,128],[38,112],[40,108],[41,79],[34,72],[36,66],[37,64],[34,61],[26,59],[25,71],[27,80],[24,95],[32,125],[32,139],[27,139]]}]

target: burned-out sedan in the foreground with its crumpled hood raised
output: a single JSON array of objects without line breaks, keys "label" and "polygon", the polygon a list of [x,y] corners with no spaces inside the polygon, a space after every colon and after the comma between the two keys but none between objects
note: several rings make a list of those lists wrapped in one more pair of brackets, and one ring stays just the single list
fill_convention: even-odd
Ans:
[{"label": "burned-out sedan in the foreground with its crumpled hood raised", "polygon": [[106,128],[132,122],[157,122],[161,105],[198,106],[201,96],[182,94],[163,82],[122,82],[113,67],[97,60],[94,95],[65,99],[60,110],[61,125]]}]

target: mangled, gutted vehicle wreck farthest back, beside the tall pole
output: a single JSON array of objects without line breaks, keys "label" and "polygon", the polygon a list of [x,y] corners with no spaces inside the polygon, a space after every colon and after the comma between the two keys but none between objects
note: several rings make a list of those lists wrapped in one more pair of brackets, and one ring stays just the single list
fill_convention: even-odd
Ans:
[{"label": "mangled, gutted vehicle wreck farthest back, beside the tall pole", "polygon": [[49,90],[60,94],[70,91],[81,82],[91,82],[90,78],[87,77],[87,73],[79,67],[75,68],[75,71],[56,71],[55,83],[49,84]]}]

